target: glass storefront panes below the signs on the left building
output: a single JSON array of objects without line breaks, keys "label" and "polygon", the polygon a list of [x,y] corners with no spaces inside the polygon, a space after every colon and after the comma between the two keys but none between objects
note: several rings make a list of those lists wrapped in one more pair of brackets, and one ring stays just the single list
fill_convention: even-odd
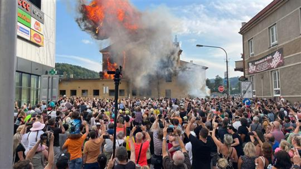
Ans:
[{"label": "glass storefront panes below the signs on the left building", "polygon": [[39,103],[39,89],[40,89],[41,77],[37,75],[30,75],[27,73],[16,72],[15,82],[15,101],[18,105],[30,103],[36,105]]}]

